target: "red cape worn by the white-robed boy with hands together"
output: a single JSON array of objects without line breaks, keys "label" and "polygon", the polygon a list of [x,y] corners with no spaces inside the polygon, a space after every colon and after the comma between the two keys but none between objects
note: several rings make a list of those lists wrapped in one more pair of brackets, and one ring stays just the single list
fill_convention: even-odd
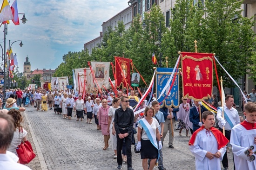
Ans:
[{"label": "red cape worn by the white-robed boy with hands together", "polygon": [[[204,126],[201,126],[193,133],[191,139],[189,140],[189,145],[194,145],[197,133],[202,131],[203,129],[205,129]],[[221,131],[219,131],[215,127],[211,127],[209,130],[213,133],[217,140],[218,150],[220,150],[222,147],[226,146],[229,143],[229,140],[222,134]]]}]

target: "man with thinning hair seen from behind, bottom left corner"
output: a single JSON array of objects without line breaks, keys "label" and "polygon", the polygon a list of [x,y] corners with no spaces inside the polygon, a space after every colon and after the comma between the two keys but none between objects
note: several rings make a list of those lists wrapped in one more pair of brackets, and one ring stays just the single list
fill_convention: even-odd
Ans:
[{"label": "man with thinning hair seen from behind, bottom left corner", "polygon": [[0,170],[31,170],[18,164],[7,154],[13,139],[14,120],[10,115],[0,114]]}]

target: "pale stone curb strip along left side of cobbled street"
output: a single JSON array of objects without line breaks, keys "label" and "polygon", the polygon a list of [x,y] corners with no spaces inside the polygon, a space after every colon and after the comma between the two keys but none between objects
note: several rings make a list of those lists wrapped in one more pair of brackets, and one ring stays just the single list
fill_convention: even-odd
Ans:
[{"label": "pale stone curb strip along left side of cobbled street", "polygon": [[39,162],[40,162],[41,170],[48,170],[48,169],[47,169],[47,165],[46,165],[46,163],[45,163],[45,159],[44,159],[43,154],[42,154],[42,151],[41,151],[40,146],[39,146],[39,144],[38,144],[38,141],[37,141],[37,139],[36,139],[36,137],[35,137],[35,134],[34,134],[34,131],[33,131],[33,129],[32,129],[32,126],[31,126],[31,124],[30,124],[30,121],[29,121],[29,119],[28,119],[28,117],[27,117],[27,113],[26,113],[26,111],[23,112],[23,113],[24,113],[25,118],[26,118],[26,120],[27,120],[27,124],[28,124],[28,127],[29,127],[29,131],[30,131],[30,133],[31,133],[31,137],[32,137],[33,142],[34,142],[34,146],[35,146],[35,149],[36,149],[36,152],[37,152],[37,157],[38,157]]}]

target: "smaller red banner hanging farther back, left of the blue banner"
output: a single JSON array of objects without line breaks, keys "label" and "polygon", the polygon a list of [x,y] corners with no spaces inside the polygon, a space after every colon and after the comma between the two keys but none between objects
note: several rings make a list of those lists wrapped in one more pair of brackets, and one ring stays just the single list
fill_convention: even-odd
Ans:
[{"label": "smaller red banner hanging farther back, left of the blue banner", "polygon": [[131,86],[131,61],[128,58],[115,57],[116,87],[119,88],[122,85],[124,88],[127,86],[129,88]]}]

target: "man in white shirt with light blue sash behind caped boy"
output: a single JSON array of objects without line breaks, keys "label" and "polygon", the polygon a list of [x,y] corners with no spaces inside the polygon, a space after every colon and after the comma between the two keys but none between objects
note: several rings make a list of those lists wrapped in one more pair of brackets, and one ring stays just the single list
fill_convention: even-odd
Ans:
[{"label": "man in white shirt with light blue sash behind caped boy", "polygon": [[[225,105],[224,105],[224,118],[222,118],[222,107],[218,107],[217,116],[216,119],[219,120],[219,130],[223,132],[223,127],[225,130],[225,137],[230,140],[230,134],[231,129],[240,123],[240,118],[237,110],[233,108],[234,104],[234,96],[233,95],[227,95],[225,97]],[[224,170],[228,170],[229,162],[228,162],[228,156],[227,151],[225,152],[223,159],[222,159],[222,165],[224,167]]]}]

